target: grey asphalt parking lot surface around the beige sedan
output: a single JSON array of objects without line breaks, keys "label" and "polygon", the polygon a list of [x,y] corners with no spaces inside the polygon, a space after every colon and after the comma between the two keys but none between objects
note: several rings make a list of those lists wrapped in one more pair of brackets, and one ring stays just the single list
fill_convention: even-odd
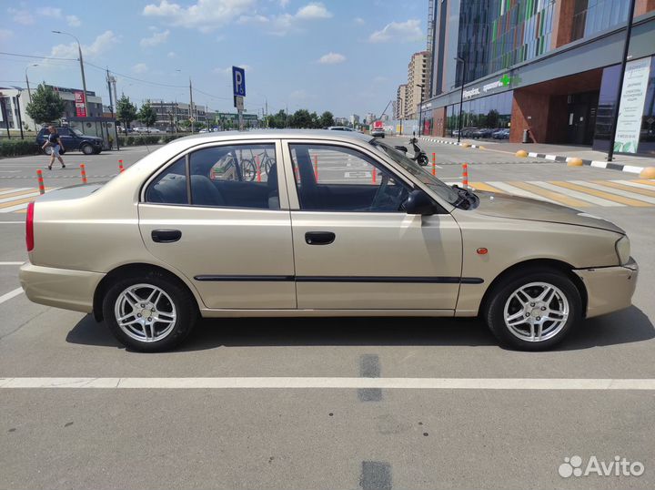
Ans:
[{"label": "grey asphalt parking lot surface around the beige sedan", "polygon": [[[635,179],[493,151],[425,149],[435,151],[438,175],[450,182],[464,161],[471,181],[495,185]],[[106,179],[117,158],[130,164],[145,152],[88,157],[87,172]],[[73,168],[85,160],[69,154],[66,161]],[[0,188],[28,187],[38,166],[37,158],[0,160]],[[46,185],[48,177],[56,187],[77,183],[75,169],[53,170]],[[600,199],[616,205],[586,201],[588,212],[630,235],[640,262],[634,306],[584,322],[558,349],[538,353],[499,348],[478,320],[408,318],[212,320],[176,352],[129,352],[84,314],[36,305],[23,294],[7,298],[18,287],[11,262],[26,257],[24,215],[2,214],[0,488],[653,488],[652,389],[512,385],[516,378],[655,379],[655,206],[605,194]],[[1,387],[13,377],[186,384],[216,377],[237,378],[241,387],[179,389],[152,380],[129,389]],[[243,387],[259,377],[285,387]],[[364,380],[364,387],[291,387],[305,378],[338,386],[344,378]],[[377,388],[378,378],[480,385]],[[512,389],[488,389],[489,378]],[[583,467],[591,456],[609,463],[619,455],[645,470],[563,478],[559,466],[574,455]]]}]

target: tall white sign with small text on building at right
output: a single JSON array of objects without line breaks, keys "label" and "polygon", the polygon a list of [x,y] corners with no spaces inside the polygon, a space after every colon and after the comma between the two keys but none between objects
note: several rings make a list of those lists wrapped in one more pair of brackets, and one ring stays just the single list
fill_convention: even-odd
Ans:
[{"label": "tall white sign with small text on building at right", "polygon": [[641,116],[650,75],[650,58],[630,61],[626,65],[621,88],[619,120],[614,151],[637,153],[640,140]]}]

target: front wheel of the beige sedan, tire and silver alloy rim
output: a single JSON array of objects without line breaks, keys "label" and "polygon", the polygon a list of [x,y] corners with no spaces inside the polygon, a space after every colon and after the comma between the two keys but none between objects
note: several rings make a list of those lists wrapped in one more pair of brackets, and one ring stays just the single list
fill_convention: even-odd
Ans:
[{"label": "front wheel of the beige sedan, tire and silver alloy rim", "polygon": [[[544,351],[561,342],[581,322],[582,299],[565,273],[530,269],[517,271],[495,285],[483,314],[501,345]],[[549,315],[547,320],[542,318],[544,314]]]}]

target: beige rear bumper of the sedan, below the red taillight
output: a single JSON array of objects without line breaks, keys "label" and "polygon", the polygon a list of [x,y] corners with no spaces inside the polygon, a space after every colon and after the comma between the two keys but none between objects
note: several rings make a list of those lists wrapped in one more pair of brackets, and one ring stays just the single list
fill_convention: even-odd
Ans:
[{"label": "beige rear bumper of the sedan, below the red taillight", "polygon": [[93,311],[94,292],[105,277],[99,272],[42,267],[25,262],[18,274],[30,301],[65,310]]}]

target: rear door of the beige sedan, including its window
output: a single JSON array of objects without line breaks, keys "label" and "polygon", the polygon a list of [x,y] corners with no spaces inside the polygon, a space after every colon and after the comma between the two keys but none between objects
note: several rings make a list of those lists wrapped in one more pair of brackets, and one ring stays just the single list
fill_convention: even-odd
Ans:
[{"label": "rear door of the beige sedan, including its window", "polygon": [[208,308],[296,307],[279,143],[209,145],[179,158],[139,204],[146,248],[186,275]]}]

